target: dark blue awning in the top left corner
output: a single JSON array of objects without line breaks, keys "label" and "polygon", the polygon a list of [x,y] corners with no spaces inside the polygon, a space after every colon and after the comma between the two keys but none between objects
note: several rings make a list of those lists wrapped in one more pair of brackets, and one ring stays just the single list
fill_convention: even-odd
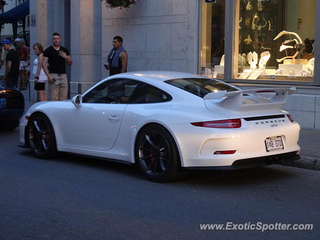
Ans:
[{"label": "dark blue awning in the top left corner", "polygon": [[21,20],[29,14],[29,0],[0,14],[1,23],[13,23]]}]

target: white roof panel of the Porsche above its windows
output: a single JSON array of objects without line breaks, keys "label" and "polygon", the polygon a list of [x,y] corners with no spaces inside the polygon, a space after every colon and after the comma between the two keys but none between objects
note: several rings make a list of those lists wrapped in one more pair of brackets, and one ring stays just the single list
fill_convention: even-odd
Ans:
[{"label": "white roof panel of the Porsche above its windows", "polygon": [[[116,75],[112,75],[112,78],[117,77],[130,77],[137,78],[141,80],[148,80],[150,78],[157,79],[160,81],[175,79],[175,78],[187,78],[187,77],[201,77],[200,75],[187,73],[187,72],[179,72],[179,71],[131,71],[124,72]],[[109,78],[111,79],[111,77]]]}]

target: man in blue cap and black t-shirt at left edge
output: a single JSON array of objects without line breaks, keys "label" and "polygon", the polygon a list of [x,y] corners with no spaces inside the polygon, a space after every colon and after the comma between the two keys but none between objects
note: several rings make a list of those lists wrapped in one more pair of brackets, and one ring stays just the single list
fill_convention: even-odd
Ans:
[{"label": "man in blue cap and black t-shirt at left edge", "polygon": [[4,39],[1,41],[1,43],[4,50],[8,51],[5,57],[6,66],[4,81],[6,82],[6,87],[13,88],[16,86],[19,75],[19,56],[18,53],[11,47],[8,39]]}]

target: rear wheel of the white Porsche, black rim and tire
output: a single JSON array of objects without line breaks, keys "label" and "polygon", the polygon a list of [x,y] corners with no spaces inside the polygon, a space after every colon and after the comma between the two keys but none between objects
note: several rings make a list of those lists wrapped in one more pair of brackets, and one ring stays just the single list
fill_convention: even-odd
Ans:
[{"label": "rear wheel of the white Porsche, black rim and tire", "polygon": [[173,137],[163,126],[144,127],[135,141],[135,161],[147,179],[172,181],[184,174],[178,171],[180,157]]}]

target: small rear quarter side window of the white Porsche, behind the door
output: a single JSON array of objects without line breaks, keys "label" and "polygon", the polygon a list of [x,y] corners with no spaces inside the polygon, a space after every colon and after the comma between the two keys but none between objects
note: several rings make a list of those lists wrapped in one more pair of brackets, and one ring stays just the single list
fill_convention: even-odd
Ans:
[{"label": "small rear quarter side window of the white Porsche, behind the door", "polygon": [[147,83],[139,82],[135,86],[128,103],[154,103],[169,100],[171,100],[171,96],[167,93]]}]

